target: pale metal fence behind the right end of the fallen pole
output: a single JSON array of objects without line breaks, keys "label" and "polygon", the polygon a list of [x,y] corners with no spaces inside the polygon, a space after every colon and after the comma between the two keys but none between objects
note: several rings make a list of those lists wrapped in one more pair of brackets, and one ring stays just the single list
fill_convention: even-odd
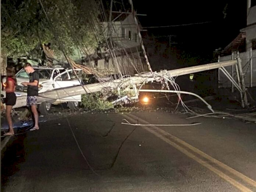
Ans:
[{"label": "pale metal fence behind the right end of the fallen pole", "polygon": [[[256,87],[256,50],[250,50],[243,53],[234,52],[229,56],[219,57],[219,61],[228,61],[240,57],[242,60],[243,75],[246,87]],[[237,81],[236,66],[232,65],[225,67],[225,69]],[[218,87],[219,88],[232,88],[233,85],[224,73],[218,70]]]}]

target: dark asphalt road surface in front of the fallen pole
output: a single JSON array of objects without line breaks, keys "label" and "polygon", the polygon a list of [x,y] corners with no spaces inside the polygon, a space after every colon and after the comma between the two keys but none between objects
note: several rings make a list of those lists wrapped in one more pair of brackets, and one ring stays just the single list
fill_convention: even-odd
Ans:
[{"label": "dark asphalt road surface in front of the fallen pole", "polygon": [[4,154],[1,191],[256,191],[255,124],[186,117],[84,113],[41,122]]}]

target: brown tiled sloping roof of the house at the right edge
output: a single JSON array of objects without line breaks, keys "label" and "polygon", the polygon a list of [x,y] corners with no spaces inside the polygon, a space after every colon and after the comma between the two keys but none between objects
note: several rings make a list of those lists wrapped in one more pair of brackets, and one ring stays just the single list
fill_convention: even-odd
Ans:
[{"label": "brown tiled sloping roof of the house at the right edge", "polygon": [[239,35],[221,51],[221,54],[231,54],[233,51],[241,51],[242,49],[245,49],[245,39],[246,33],[239,33]]}]

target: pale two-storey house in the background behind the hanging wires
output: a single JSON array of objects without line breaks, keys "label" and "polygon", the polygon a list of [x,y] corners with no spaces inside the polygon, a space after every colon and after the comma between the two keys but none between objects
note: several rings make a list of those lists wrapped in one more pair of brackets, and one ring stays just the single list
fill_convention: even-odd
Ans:
[{"label": "pale two-storey house in the background behind the hanging wires", "polygon": [[[118,66],[120,71],[128,72],[129,75],[145,71],[146,63],[145,58],[140,55],[141,46],[134,15],[115,11],[111,14],[111,24],[109,23],[109,15],[106,16],[106,20],[101,21],[102,31],[105,37],[110,38],[109,40],[113,42],[116,59],[106,59],[109,51],[107,51],[108,47],[105,46],[104,49],[100,50],[101,53],[95,57],[94,67],[112,71],[116,70],[115,68]],[[138,28],[139,31],[142,31],[139,21]],[[102,52],[105,53],[102,54]]]}]

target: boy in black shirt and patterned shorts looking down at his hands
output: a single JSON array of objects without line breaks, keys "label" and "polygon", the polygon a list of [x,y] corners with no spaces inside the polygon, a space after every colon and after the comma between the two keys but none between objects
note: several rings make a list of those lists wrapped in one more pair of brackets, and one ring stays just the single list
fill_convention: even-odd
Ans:
[{"label": "boy in black shirt and patterned shorts looking down at his hands", "polygon": [[23,67],[29,74],[29,82],[22,82],[21,85],[28,86],[27,90],[27,105],[31,106],[31,111],[35,118],[35,127],[30,129],[31,131],[38,130],[38,111],[37,111],[37,96],[38,96],[38,83],[39,74],[36,72],[30,63],[26,63]]}]

